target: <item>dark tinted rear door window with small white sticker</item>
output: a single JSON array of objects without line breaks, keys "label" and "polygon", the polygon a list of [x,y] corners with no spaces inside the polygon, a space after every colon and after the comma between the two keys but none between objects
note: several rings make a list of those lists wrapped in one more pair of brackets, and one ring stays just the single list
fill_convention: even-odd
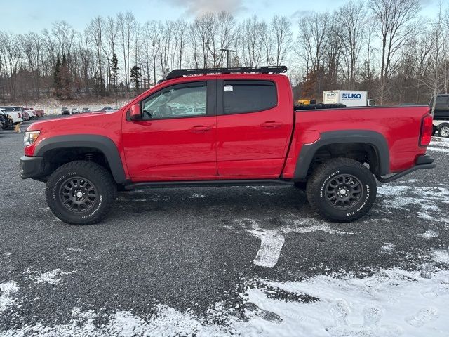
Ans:
[{"label": "dark tinted rear door window with small white sticker", "polygon": [[223,85],[224,114],[269,110],[276,107],[277,101],[272,81],[225,81]]}]

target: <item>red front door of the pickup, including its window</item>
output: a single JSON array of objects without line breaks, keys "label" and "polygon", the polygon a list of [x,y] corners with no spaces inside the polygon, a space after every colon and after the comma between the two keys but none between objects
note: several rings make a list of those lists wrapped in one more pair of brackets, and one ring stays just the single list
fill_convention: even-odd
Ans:
[{"label": "red front door of the pickup, including its window", "polygon": [[142,100],[143,120],[123,123],[133,180],[217,176],[215,89],[215,80],[174,84]]}]

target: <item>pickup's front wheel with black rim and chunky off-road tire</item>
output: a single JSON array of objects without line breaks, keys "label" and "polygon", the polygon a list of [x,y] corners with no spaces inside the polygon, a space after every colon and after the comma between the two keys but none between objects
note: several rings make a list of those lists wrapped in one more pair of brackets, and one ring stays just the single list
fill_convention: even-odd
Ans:
[{"label": "pickup's front wheel with black rim and chunky off-road tire", "polygon": [[[76,187],[77,179],[79,180],[79,190]],[[75,192],[71,192],[72,190],[67,186],[72,187]],[[86,190],[82,191],[81,187]],[[85,209],[81,209],[81,211],[70,209],[71,205],[73,208],[80,207],[75,202],[76,198],[72,198],[72,194],[76,191],[81,191],[81,194],[83,192],[95,193],[95,198],[90,197],[88,203],[84,201],[87,206],[83,206]],[[72,199],[72,201],[68,199]],[[109,213],[115,199],[116,184],[111,174],[104,167],[92,161],[71,161],[64,164],[52,173],[46,184],[46,201],[51,211],[60,220],[72,225],[92,225],[100,222]],[[83,199],[80,200],[80,203],[83,203]]]}]

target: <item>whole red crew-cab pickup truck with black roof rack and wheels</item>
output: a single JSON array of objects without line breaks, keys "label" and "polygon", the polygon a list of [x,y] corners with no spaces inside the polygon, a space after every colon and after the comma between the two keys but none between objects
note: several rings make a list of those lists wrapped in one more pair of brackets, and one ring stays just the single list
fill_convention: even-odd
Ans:
[{"label": "whole red crew-cab pickup truck with black roof rack and wheels", "polygon": [[36,122],[22,178],[46,182],[51,211],[73,224],[143,185],[306,187],[323,218],[344,222],[373,206],[375,178],[435,166],[428,106],[294,107],[285,71],[174,70],[117,111]]}]

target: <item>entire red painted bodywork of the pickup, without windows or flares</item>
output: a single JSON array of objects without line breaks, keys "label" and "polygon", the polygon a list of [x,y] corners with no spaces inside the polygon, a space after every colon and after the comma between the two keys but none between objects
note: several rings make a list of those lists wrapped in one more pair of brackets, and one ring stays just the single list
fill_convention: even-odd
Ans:
[{"label": "entire red painted bodywork of the pickup, without windows or flares", "polygon": [[[152,93],[173,84],[211,79],[274,81],[278,104],[270,110],[180,119],[127,121],[126,112]],[[429,107],[363,107],[293,112],[288,78],[269,74],[223,74],[164,81],[116,112],[80,114],[38,121],[36,142],[25,147],[33,156],[41,140],[70,134],[95,134],[116,145],[126,178],[133,182],[293,178],[304,144],[326,131],[368,130],[381,133],[389,145],[391,173],[409,169],[426,152],[420,147],[421,121]],[[261,126],[266,122],[274,127]],[[192,132],[193,126],[207,131]]]}]

